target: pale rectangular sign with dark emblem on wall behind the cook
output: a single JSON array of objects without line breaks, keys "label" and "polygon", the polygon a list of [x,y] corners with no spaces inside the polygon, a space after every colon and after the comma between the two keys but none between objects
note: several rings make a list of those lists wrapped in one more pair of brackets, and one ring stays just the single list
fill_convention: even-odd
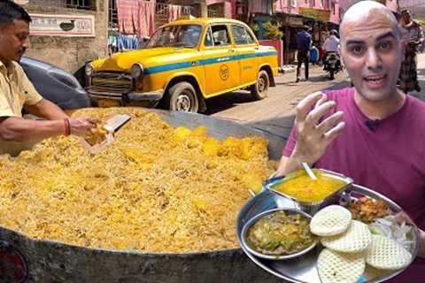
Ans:
[{"label": "pale rectangular sign with dark emblem on wall behind the cook", "polygon": [[93,15],[30,14],[31,35],[94,37]]}]

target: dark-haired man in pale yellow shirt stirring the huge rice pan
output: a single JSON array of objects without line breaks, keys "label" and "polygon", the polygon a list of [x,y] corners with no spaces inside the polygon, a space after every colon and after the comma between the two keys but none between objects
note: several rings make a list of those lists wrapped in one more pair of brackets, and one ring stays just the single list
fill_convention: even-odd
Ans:
[{"label": "dark-haired man in pale yellow shirt stirring the huge rice pan", "polygon": [[[28,142],[61,134],[84,135],[96,126],[92,119],[71,119],[56,104],[43,99],[28,80],[20,57],[29,47],[31,18],[18,4],[0,0],[0,154],[19,154]],[[23,119],[25,109],[47,120]]]}]

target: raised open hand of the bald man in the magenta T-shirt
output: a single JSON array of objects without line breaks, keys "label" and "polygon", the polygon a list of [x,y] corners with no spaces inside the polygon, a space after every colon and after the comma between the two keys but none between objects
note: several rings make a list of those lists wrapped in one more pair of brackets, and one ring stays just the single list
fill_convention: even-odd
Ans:
[{"label": "raised open hand of the bald man in the magenta T-shirt", "polygon": [[335,102],[328,101],[328,97],[321,92],[306,96],[298,103],[297,144],[291,158],[296,159],[298,163],[306,162],[313,165],[325,153],[328,144],[343,131],[345,126],[342,111],[337,111],[321,121],[321,118],[334,107]]}]

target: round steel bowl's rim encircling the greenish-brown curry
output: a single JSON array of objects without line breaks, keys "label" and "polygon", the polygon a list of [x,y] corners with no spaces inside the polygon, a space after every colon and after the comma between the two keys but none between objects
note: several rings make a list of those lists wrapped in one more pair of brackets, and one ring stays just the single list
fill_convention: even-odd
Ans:
[{"label": "round steel bowl's rim encircling the greenish-brown curry", "polygon": [[295,258],[295,257],[298,257],[298,256],[303,256],[303,255],[305,255],[306,253],[308,253],[309,251],[311,251],[312,249],[314,249],[316,247],[317,240],[314,241],[312,245],[310,245],[309,247],[307,247],[307,248],[305,248],[303,250],[300,250],[300,251],[298,251],[296,253],[292,253],[292,254],[289,254],[289,255],[282,255],[282,256],[278,256],[278,255],[266,255],[266,254],[260,253],[259,251],[255,250],[255,249],[252,249],[250,247],[250,245],[246,241],[246,238],[247,238],[247,233],[248,233],[249,229],[251,228],[251,226],[253,226],[260,218],[263,218],[263,217],[267,216],[268,214],[271,214],[271,213],[274,213],[274,212],[280,211],[280,210],[285,211],[285,213],[288,214],[288,215],[301,214],[303,217],[305,217],[305,218],[307,218],[309,220],[312,219],[312,217],[309,214],[307,214],[307,213],[305,213],[304,211],[301,211],[301,210],[293,210],[293,209],[288,209],[288,208],[284,208],[284,209],[279,208],[279,209],[273,209],[273,210],[263,211],[263,212],[259,213],[258,215],[254,216],[253,218],[251,218],[243,226],[242,233],[241,233],[242,234],[242,237],[240,238],[242,249],[244,249],[245,251],[250,252],[254,256],[258,256],[258,257],[261,257],[261,258],[264,258],[264,259],[269,259],[269,260],[286,260],[286,259]]}]

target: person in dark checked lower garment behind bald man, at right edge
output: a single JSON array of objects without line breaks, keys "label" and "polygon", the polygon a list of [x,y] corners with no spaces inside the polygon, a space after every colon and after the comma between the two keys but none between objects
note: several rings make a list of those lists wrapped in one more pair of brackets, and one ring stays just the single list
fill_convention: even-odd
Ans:
[{"label": "person in dark checked lower garment behind bald man, at right edge", "polygon": [[421,25],[412,19],[409,10],[401,11],[399,26],[402,33],[402,39],[405,46],[405,59],[401,65],[399,83],[404,92],[416,90],[421,91],[417,75],[417,57],[421,45],[424,42],[424,36]]}]

